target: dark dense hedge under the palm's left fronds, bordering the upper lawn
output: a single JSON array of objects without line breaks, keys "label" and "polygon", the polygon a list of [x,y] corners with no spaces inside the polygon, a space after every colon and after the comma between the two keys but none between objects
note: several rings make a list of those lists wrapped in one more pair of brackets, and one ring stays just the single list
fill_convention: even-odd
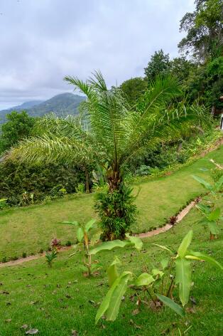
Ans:
[{"label": "dark dense hedge under the palm's left fronds, bordering the upper lawn", "polygon": [[85,175],[77,167],[30,165],[8,160],[0,164],[0,195],[7,199],[0,207],[24,206],[45,198],[60,198],[78,191],[82,181],[85,181]]}]

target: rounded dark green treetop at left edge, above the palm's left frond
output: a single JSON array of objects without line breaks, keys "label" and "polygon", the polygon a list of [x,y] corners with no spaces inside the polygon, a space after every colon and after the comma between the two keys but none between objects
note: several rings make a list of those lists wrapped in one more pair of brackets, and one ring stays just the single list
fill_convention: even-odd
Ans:
[{"label": "rounded dark green treetop at left edge, above the palm's left frond", "polygon": [[35,118],[29,117],[26,111],[11,112],[6,115],[6,122],[1,126],[0,151],[16,145],[18,141],[31,135]]}]

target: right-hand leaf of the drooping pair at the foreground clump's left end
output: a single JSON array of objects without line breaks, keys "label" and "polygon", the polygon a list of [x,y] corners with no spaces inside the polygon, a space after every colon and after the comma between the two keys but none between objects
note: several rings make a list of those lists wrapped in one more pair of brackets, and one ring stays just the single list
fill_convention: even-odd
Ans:
[{"label": "right-hand leaf of the drooping pair at the foreground clump's left end", "polygon": [[114,291],[112,292],[109,302],[109,308],[107,309],[106,315],[108,321],[116,320],[116,317],[119,314],[121,298],[123,297],[124,293],[126,293],[127,284],[129,278],[131,278],[131,272],[124,272],[121,274],[119,278],[120,280],[116,285],[116,287],[114,288]]}]

